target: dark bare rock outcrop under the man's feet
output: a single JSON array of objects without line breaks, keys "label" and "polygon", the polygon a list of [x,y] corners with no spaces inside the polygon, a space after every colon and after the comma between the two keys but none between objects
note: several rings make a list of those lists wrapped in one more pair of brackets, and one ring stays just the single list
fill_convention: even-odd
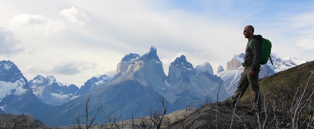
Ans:
[{"label": "dark bare rock outcrop under the man's feet", "polygon": [[[217,107],[216,107],[217,106]],[[245,106],[238,106],[237,110],[234,112],[231,109],[231,106],[226,106],[222,103],[212,103],[206,106],[203,106],[184,119],[176,121],[172,125],[166,127],[166,129],[229,129],[232,123],[232,128],[234,129],[256,129],[258,128],[258,123],[260,122],[263,126],[265,121],[265,115],[260,116],[258,121],[256,115],[247,115],[246,111],[248,110]],[[216,126],[216,113],[217,113],[217,126]],[[282,114],[276,114],[281,115]],[[269,115],[268,117],[273,117],[274,115]],[[266,121],[266,126],[268,128],[276,128],[277,122],[272,121],[273,118]],[[289,128],[286,126],[288,121],[283,117],[279,117],[278,128]],[[265,126],[265,127],[266,127]]]}]

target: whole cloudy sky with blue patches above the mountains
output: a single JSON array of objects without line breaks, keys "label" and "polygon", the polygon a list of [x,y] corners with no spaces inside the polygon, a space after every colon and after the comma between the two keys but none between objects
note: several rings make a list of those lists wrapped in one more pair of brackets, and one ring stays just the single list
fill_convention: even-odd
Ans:
[{"label": "whole cloudy sky with blue patches above the mountains", "polygon": [[279,56],[314,60],[313,1],[81,1],[0,0],[0,59],[11,60],[31,80],[55,76],[66,85],[115,75],[129,53],[150,46],[168,73],[184,54],[194,67],[216,72],[244,52],[242,32],[253,25]]}]

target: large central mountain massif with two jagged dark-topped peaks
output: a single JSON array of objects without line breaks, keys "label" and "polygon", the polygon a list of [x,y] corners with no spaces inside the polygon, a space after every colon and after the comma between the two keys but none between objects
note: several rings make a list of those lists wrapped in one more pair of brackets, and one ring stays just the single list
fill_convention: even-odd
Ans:
[{"label": "large central mountain massif with two jagged dark-topped peaks", "polygon": [[[160,98],[164,98],[168,112],[186,108],[193,103],[199,106],[206,100],[217,98],[220,77],[208,71],[194,69],[184,55],[177,57],[165,75],[157,49],[151,47],[143,56],[127,54],[117,65],[117,74],[110,81],[90,92],[89,107],[102,109],[96,122],[105,122],[108,115],[117,113],[122,120],[145,116],[149,109],[162,109]],[[219,100],[227,93],[220,89]],[[64,126],[73,123],[78,116],[84,116],[84,106],[89,94],[81,95],[67,103],[36,114],[43,122]],[[90,108],[90,116],[95,115]],[[47,117],[49,116],[49,117]]]}]

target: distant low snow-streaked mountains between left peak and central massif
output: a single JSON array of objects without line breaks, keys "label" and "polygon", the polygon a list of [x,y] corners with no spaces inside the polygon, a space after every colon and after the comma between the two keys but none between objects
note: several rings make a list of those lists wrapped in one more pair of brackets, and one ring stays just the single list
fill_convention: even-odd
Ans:
[{"label": "distant low snow-streaked mountains between left peak and central massif", "polygon": [[106,75],[101,75],[100,77],[94,76],[87,80],[81,88],[78,88],[74,84],[69,86],[63,85],[54,76],[47,76],[45,78],[38,75],[29,81],[29,85],[33,89],[33,93],[42,102],[57,106],[95,90],[110,79],[111,77]]}]

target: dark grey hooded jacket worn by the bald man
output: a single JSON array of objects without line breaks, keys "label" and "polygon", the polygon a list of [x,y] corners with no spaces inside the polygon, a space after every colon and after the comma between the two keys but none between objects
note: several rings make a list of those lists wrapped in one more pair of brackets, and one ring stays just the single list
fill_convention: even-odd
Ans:
[{"label": "dark grey hooded jacket worn by the bald man", "polygon": [[[249,47],[250,40],[252,50]],[[251,67],[252,71],[255,71],[261,67],[259,63],[259,57],[261,52],[261,43],[259,40],[262,39],[261,35],[253,35],[253,37],[248,40],[246,44],[245,54],[244,54],[244,62],[242,63],[242,66],[245,68]]]}]

